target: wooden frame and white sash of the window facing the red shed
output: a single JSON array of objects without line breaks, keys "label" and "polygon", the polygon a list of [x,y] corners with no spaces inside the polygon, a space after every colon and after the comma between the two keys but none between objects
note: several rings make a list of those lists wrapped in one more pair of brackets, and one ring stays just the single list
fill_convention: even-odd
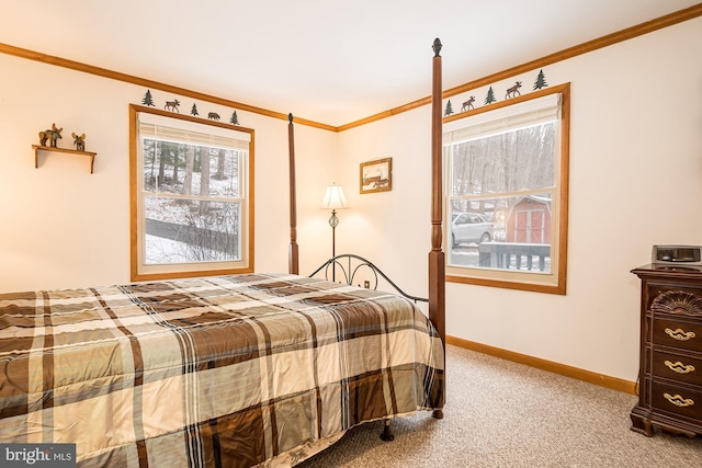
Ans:
[{"label": "wooden frame and white sash of the window facing the red shed", "polygon": [[[471,135],[489,135],[499,121],[532,118],[540,112],[539,101],[557,101],[558,126],[556,128],[557,151],[554,160],[554,187],[552,194],[551,270],[548,273],[523,270],[455,266],[446,262],[446,281],[511,289],[533,290],[550,294],[566,294],[567,239],[568,239],[568,170],[569,170],[569,114],[570,83],[546,88],[522,96],[509,99],[474,111],[443,118],[444,146],[444,239],[451,246],[451,168],[449,146],[452,140]],[[548,105],[548,104],[547,104]],[[519,111],[518,111],[519,110]],[[545,111],[551,112],[551,111]],[[528,114],[532,114],[529,117]],[[543,192],[543,191],[542,191]],[[525,193],[528,195],[528,193]]]}]

